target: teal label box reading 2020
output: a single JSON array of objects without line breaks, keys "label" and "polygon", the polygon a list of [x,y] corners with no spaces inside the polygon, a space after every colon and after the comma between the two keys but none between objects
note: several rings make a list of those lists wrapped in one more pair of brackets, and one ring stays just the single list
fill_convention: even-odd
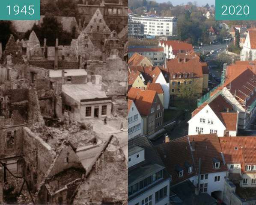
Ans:
[{"label": "teal label box reading 2020", "polygon": [[256,20],[256,0],[216,0],[216,20]]}]

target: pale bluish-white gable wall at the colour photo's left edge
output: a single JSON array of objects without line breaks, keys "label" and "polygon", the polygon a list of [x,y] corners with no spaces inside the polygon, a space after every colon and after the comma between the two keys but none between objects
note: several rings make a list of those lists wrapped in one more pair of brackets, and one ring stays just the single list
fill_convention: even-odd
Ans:
[{"label": "pale bluish-white gable wall at the colour photo's left edge", "polygon": [[[134,115],[136,115],[136,114],[139,115],[139,118],[138,118],[138,120],[134,121]],[[133,128],[135,125],[137,125],[139,123],[140,123],[140,129],[135,131],[135,132],[132,132],[131,134],[129,134],[128,139],[134,138],[137,135],[143,135],[143,120],[142,120],[142,118],[140,116],[140,113],[137,110],[136,105],[134,104],[134,102],[132,102],[130,111],[128,113],[128,118],[129,117],[132,117],[132,122],[128,123],[128,129],[131,128],[131,127]]]}]

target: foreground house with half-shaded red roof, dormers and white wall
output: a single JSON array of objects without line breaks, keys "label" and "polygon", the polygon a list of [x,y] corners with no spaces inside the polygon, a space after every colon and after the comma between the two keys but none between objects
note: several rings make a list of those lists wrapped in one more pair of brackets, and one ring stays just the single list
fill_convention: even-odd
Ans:
[{"label": "foreground house with half-shaded red roof, dormers and white wall", "polygon": [[156,146],[170,176],[170,187],[190,180],[199,194],[222,199],[226,164],[216,134],[191,135]]}]

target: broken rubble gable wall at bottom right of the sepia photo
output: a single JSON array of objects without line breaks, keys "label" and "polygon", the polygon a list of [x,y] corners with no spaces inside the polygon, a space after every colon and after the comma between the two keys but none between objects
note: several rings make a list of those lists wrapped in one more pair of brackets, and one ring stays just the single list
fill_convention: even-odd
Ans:
[{"label": "broken rubble gable wall at bottom right of the sepia photo", "polygon": [[125,155],[119,141],[113,137],[96,161],[89,176],[81,182],[73,204],[126,204],[128,199],[127,177],[128,167]]}]

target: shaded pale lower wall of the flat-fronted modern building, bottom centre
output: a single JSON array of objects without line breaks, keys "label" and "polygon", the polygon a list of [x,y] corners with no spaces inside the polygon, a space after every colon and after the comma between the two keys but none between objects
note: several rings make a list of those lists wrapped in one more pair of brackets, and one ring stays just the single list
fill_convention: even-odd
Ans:
[{"label": "shaded pale lower wall of the flat-fronted modern building, bottom centre", "polygon": [[[155,193],[158,190],[164,188],[165,186],[167,186],[167,197],[165,197],[164,199],[162,199],[158,203],[155,203]],[[169,195],[170,195],[170,181],[169,181],[169,178],[167,180],[165,180],[164,182],[152,187],[150,190],[147,190],[147,191],[143,192],[142,194],[140,194],[136,198],[128,201],[128,205],[135,205],[137,203],[139,203],[139,205],[141,205],[141,201],[143,199],[145,199],[146,197],[150,196],[150,195],[152,195],[152,205],[168,204],[169,203]]]}]

